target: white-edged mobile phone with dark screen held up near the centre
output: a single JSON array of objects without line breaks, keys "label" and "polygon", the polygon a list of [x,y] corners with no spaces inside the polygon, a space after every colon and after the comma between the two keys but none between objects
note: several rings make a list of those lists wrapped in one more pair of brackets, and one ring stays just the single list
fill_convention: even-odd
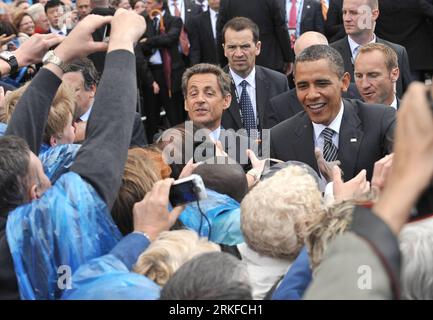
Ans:
[{"label": "white-edged mobile phone with dark screen held up near the centre", "polygon": [[176,180],[170,187],[169,200],[173,207],[206,198],[203,180],[197,174]]}]

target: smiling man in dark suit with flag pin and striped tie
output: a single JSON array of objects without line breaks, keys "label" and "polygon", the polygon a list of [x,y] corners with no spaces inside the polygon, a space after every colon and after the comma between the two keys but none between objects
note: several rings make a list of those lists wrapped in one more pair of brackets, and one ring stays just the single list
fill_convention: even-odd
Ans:
[{"label": "smiling man in dark suit with flag pin and striped tie", "polygon": [[296,57],[296,92],[304,112],[271,129],[271,156],[307,163],[319,173],[315,148],[328,162],[339,160],[344,179],[391,153],[395,110],[341,98],[349,74],[335,49],[311,46]]}]

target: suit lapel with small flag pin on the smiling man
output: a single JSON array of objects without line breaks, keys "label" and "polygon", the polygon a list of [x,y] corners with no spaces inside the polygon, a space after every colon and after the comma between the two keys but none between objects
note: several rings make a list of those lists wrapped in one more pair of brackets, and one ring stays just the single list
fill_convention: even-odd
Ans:
[{"label": "suit lapel with small flag pin on the smiling man", "polygon": [[355,168],[364,132],[353,102],[343,100],[343,103],[344,113],[339,134],[338,160],[341,161],[344,176],[353,177],[358,174],[355,172]]}]

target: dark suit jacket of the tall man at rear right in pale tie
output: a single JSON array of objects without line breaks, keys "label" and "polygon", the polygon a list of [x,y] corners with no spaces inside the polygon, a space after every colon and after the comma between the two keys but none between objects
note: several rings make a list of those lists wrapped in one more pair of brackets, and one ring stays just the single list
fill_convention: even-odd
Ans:
[{"label": "dark suit jacket of the tall man at rear right in pale tie", "polygon": [[[395,53],[397,53],[398,66],[400,68],[400,76],[397,80],[396,89],[397,89],[397,96],[401,98],[404,92],[406,91],[407,87],[409,86],[412,78],[410,74],[409,58],[407,56],[407,51],[404,47],[392,42],[388,42],[379,37],[376,37],[376,42],[387,45],[388,47],[394,49]],[[350,73],[350,81],[354,82],[355,77],[353,73],[354,65],[352,63],[352,51],[350,50],[349,40],[347,36],[341,40],[331,43],[331,47],[333,47],[338,52],[340,52],[344,61],[344,70]]]}]

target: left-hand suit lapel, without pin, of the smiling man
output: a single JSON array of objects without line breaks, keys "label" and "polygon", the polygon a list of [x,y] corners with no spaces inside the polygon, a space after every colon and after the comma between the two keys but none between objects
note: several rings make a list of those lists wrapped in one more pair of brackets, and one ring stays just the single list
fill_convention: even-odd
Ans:
[{"label": "left-hand suit lapel, without pin, of the smiling man", "polygon": [[[296,138],[292,140],[295,159],[310,165],[317,173],[316,156],[314,155],[314,130],[307,113],[303,113],[295,127]],[[290,133],[288,137],[292,136]]]}]

